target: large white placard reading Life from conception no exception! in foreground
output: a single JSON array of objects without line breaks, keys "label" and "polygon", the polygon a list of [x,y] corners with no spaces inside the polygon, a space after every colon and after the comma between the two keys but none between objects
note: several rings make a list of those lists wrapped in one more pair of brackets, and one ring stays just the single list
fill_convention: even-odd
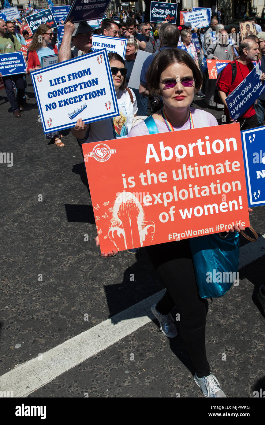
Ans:
[{"label": "large white placard reading Life from conception no exception! in foreground", "polygon": [[31,72],[45,134],[119,114],[106,49]]}]

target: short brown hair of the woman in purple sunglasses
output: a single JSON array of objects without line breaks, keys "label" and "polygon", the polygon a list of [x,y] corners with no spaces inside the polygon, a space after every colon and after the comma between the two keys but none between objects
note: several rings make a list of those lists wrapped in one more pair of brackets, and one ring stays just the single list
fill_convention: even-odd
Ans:
[{"label": "short brown hair of the woman in purple sunglasses", "polygon": [[202,77],[199,69],[191,58],[191,56],[182,49],[164,49],[160,51],[151,62],[146,74],[146,84],[149,93],[152,96],[161,96],[159,83],[163,71],[174,63],[180,63],[188,66],[191,69],[193,78],[195,80],[195,93],[200,89]]}]

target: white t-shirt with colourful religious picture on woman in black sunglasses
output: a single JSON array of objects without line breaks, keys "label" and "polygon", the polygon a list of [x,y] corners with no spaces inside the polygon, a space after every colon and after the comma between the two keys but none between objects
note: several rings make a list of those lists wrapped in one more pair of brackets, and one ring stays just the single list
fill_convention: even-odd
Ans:
[{"label": "white t-shirt with colourful religious picture on woman in black sunglasses", "polygon": [[[118,119],[119,117],[114,117],[97,122],[91,122],[86,143],[102,142],[103,140],[127,137],[127,134],[131,131],[134,115],[138,111],[135,94],[132,90],[131,93],[133,95],[133,103],[131,102],[128,91],[123,91],[119,88],[116,92],[116,96],[120,119]],[[113,122],[115,123],[115,126],[112,125]]]}]

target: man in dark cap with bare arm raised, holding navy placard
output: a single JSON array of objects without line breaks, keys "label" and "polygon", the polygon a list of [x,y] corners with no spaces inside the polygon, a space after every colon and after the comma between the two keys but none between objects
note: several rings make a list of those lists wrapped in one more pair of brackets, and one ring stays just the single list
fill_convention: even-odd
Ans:
[{"label": "man in dark cap with bare arm raised, holding navy placard", "polygon": [[58,62],[90,53],[92,47],[93,28],[86,21],[73,24],[66,22]]}]

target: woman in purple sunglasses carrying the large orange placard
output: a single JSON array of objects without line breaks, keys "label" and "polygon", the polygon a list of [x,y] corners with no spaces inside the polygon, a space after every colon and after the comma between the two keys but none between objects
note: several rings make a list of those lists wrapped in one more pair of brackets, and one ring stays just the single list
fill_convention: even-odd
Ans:
[{"label": "woman in purple sunglasses carrying the large orange placard", "polygon": [[[210,113],[191,108],[201,79],[197,65],[187,52],[174,48],[157,54],[148,68],[146,81],[149,93],[161,96],[164,103],[163,108],[152,115],[158,133],[218,125]],[[148,127],[142,121],[130,131],[128,137],[147,134]],[[234,229],[237,232],[243,230],[242,226],[235,226]],[[98,238],[96,244],[99,245]],[[211,374],[206,357],[206,305],[199,297],[189,240],[151,245],[146,249],[167,289],[162,299],[152,306],[152,312],[160,322],[160,329],[167,337],[177,336],[170,315],[171,309],[176,306],[180,314],[180,337],[194,365],[195,382],[205,397],[226,397],[217,378]],[[101,255],[108,257],[116,253],[113,250],[112,253],[103,252]]]}]

